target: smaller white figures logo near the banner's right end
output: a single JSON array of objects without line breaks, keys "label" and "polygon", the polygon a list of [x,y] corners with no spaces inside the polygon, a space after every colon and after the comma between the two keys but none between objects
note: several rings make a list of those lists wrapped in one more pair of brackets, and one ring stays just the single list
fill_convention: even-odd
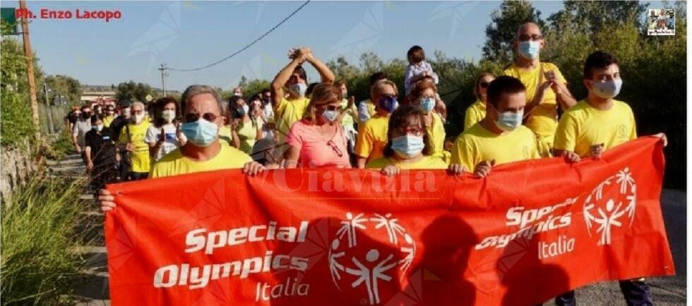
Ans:
[{"label": "smaller white figures logo near the banner's right end", "polygon": [[[614,184],[613,184],[614,180]],[[591,235],[591,228],[598,225],[596,234],[601,238],[598,245],[610,245],[613,227],[622,227],[621,218],[627,214],[629,225],[634,223],[637,205],[637,184],[628,167],[618,171],[600,183],[584,202],[584,220]]]}]

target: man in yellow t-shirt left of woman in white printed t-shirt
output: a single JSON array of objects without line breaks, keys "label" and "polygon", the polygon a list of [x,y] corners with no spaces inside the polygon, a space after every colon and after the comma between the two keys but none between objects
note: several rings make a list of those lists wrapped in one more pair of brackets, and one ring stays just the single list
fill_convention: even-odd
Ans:
[{"label": "man in yellow t-shirt left of woman in white printed t-shirt", "polygon": [[130,169],[124,180],[143,180],[147,178],[150,170],[149,145],[145,141],[145,135],[151,123],[145,120],[146,110],[142,102],[133,102],[130,106],[131,120],[120,130],[118,136],[120,152],[125,152],[125,159],[129,160]]}]

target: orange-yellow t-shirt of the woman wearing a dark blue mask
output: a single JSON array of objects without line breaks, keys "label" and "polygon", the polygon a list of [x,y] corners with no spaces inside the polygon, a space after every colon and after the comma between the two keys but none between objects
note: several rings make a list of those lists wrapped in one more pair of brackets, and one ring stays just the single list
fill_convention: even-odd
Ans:
[{"label": "orange-yellow t-shirt of the woman wearing a dark blue mask", "polygon": [[368,161],[382,157],[387,145],[388,126],[389,116],[375,114],[370,117],[359,127],[354,153],[359,157],[367,157]]}]

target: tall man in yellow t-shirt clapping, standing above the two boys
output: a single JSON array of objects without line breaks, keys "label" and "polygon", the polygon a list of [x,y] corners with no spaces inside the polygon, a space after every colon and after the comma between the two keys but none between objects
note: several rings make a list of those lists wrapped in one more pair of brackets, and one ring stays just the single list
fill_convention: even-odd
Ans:
[{"label": "tall man in yellow t-shirt clapping, standing above the two boys", "polygon": [[567,81],[553,63],[541,62],[545,46],[541,29],[535,23],[524,23],[512,41],[516,59],[503,75],[518,78],[526,87],[524,111],[526,127],[539,135],[542,146],[551,147],[557,128],[557,107],[566,111],[577,104],[567,89]]}]

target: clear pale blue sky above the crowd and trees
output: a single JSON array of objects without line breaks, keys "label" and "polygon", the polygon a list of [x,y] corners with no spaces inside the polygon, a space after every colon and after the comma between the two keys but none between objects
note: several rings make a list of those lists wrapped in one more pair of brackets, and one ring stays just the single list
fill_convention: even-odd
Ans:
[{"label": "clear pale blue sky above the crowd and trees", "polygon": [[[311,1],[249,49],[201,71],[168,71],[167,90],[206,84],[230,89],[241,75],[271,80],[288,63],[291,47],[311,47],[322,61],[346,56],[357,63],[364,51],[382,59],[405,59],[414,44],[430,56],[480,59],[485,27],[500,1]],[[650,8],[660,7],[652,2]],[[303,1],[28,1],[38,17],[29,25],[32,48],[49,75],[63,74],[87,85],[134,80],[161,86],[158,68],[196,68],[245,47]],[[547,18],[561,1],[534,1]],[[18,1],[2,1],[18,7]],[[70,11],[68,19],[40,18],[42,9]],[[78,19],[76,10],[119,11],[108,22]],[[309,79],[316,71],[306,68]]]}]

